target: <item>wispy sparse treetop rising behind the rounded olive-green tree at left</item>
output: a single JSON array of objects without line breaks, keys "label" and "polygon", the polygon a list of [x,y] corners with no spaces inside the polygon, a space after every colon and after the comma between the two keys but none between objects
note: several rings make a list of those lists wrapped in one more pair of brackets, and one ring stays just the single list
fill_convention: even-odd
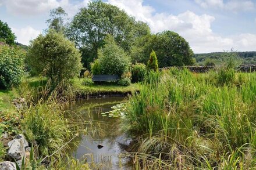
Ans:
[{"label": "wispy sparse treetop rising behind the rounded olive-green tree at left", "polygon": [[54,29],[57,32],[64,32],[64,19],[67,16],[67,13],[61,6],[50,11],[50,19],[46,21],[48,23],[49,29]]}]

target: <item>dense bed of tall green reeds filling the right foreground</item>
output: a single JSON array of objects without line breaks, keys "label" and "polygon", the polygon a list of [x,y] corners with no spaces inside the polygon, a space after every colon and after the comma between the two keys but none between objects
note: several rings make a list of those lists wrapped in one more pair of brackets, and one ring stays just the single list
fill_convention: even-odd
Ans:
[{"label": "dense bed of tall green reeds filling the right foreground", "polygon": [[254,168],[255,95],[256,73],[150,73],[123,121],[130,150],[170,169]]}]

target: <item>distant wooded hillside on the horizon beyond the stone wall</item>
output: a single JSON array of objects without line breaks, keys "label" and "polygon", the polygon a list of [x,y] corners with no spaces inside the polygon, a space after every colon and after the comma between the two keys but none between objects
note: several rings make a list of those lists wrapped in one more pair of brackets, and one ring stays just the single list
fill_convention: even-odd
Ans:
[{"label": "distant wooded hillside on the horizon beyond the stone wall", "polygon": [[[256,51],[234,52],[242,64],[256,64]],[[194,54],[197,65],[212,66],[223,60],[225,52]]]}]

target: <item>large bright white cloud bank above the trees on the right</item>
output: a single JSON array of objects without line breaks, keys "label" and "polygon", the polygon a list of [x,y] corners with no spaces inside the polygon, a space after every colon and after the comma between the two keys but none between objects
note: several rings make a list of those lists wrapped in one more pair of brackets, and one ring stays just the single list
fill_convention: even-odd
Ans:
[{"label": "large bright white cloud bank above the trees on the right", "polygon": [[[207,2],[207,4],[222,6],[222,1],[209,0]],[[154,8],[143,5],[143,0],[109,0],[108,3],[126,10],[137,20],[147,22],[153,32],[172,30],[179,33],[190,43],[195,53],[217,52],[231,48],[255,50],[256,35],[254,34],[241,34],[232,37],[215,34],[211,29],[211,24],[215,20],[214,16],[197,15],[189,10],[179,15],[155,13]]]}]

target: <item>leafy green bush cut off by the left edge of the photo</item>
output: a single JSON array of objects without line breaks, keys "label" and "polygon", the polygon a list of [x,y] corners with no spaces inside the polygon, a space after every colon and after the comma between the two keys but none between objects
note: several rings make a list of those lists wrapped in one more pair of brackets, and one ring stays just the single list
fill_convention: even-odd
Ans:
[{"label": "leafy green bush cut off by the left edge of the photo", "polygon": [[0,88],[19,85],[23,73],[24,52],[9,46],[0,46]]}]

